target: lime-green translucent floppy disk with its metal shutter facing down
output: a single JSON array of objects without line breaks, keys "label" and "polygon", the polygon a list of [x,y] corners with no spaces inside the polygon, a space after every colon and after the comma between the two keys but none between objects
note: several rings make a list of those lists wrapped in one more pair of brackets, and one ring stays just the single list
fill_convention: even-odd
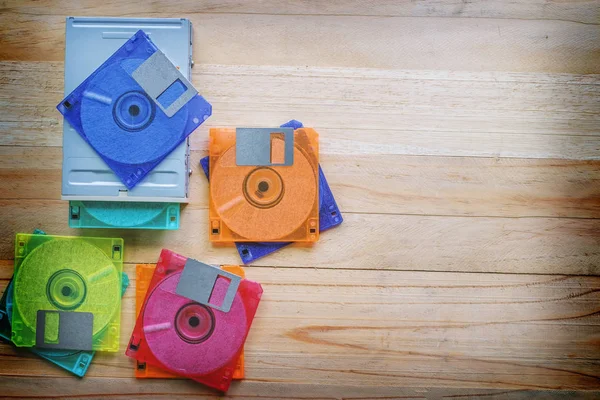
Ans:
[{"label": "lime-green translucent floppy disk with its metal shutter facing down", "polygon": [[123,239],[19,233],[12,342],[44,350],[119,350]]}]

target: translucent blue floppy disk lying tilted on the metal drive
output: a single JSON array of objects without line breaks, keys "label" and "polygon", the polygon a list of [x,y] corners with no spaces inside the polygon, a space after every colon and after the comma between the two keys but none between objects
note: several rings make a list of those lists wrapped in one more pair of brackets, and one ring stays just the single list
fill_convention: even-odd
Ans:
[{"label": "translucent blue floppy disk lying tilted on the metal drive", "polygon": [[212,113],[142,30],[57,109],[128,189]]}]

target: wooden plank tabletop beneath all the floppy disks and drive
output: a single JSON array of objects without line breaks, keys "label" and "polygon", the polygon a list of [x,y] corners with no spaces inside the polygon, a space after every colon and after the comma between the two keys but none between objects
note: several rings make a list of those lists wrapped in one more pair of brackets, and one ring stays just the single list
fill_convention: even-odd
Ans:
[{"label": "wooden plank tabletop beneath all the floppy disks and drive", "polygon": [[[16,232],[84,233],[60,200],[65,16],[186,17],[214,114],[181,229],[86,232],[125,239],[123,351],[136,263],[239,262],[207,240],[208,127],[295,118],[345,221],[247,268],[265,294],[231,398],[599,396],[600,3],[363,3],[2,1],[2,288]],[[136,380],[122,352],[78,380],[0,346],[0,396],[198,395],[218,394]]]}]

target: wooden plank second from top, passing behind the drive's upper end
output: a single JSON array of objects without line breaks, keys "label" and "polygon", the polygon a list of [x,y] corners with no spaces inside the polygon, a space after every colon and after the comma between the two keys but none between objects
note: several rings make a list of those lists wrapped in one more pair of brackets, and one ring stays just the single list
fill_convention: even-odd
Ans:
[{"label": "wooden plank second from top, passing behind the drive's upper end", "polygon": [[[99,7],[74,9],[69,3],[68,8],[57,11],[56,15],[19,9],[1,13],[0,60],[62,61],[65,15],[76,11],[82,16],[124,15],[120,5],[96,5]],[[139,15],[139,11],[133,15]],[[293,60],[295,65],[384,69],[600,72],[597,40],[600,25],[593,23],[503,18],[185,14],[180,9],[172,13],[163,11],[162,6],[160,16],[190,18],[196,37],[202,38],[195,45],[199,64],[289,65]],[[313,46],[314,43],[319,43],[319,47]]]}]

